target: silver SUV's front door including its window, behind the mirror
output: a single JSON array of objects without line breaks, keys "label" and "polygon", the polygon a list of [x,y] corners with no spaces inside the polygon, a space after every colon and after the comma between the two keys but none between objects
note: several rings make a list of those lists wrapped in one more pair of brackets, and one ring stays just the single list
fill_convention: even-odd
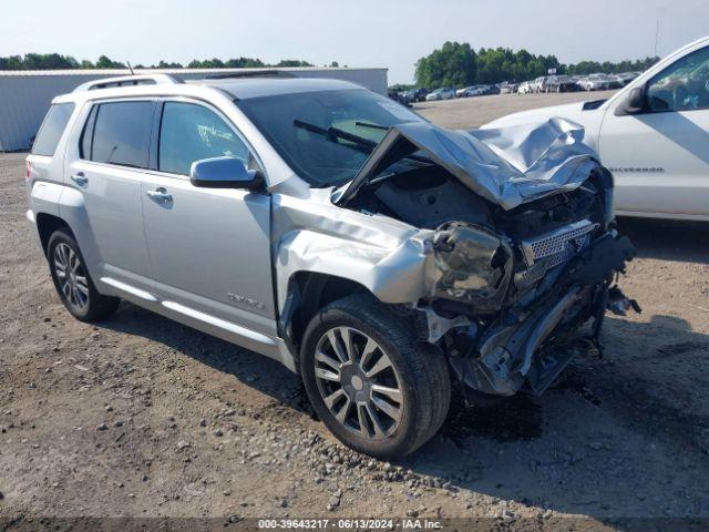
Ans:
[{"label": "silver SUV's front door including its window, behind the mirror", "polygon": [[188,177],[194,161],[224,155],[248,161],[249,147],[227,119],[204,103],[165,101],[158,114],[155,167],[143,182],[143,212],[162,305],[183,321],[206,321],[215,334],[224,329],[243,336],[246,328],[276,336],[270,196],[198,188]]}]

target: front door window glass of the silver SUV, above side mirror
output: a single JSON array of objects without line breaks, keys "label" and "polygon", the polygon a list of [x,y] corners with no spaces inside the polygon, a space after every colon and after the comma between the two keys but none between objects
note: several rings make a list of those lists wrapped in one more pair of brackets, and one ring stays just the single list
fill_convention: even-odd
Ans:
[{"label": "front door window glass of the silver SUV, above side mirror", "polygon": [[249,165],[249,151],[236,132],[203,105],[165,102],[157,168],[188,175],[192,163],[210,157],[236,157]]}]

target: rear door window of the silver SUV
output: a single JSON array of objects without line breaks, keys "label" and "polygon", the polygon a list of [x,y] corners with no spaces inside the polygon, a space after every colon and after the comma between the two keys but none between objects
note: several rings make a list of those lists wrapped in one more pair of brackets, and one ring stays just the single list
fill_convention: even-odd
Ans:
[{"label": "rear door window of the silver SUV", "polygon": [[97,163],[147,167],[153,102],[94,106],[81,139],[81,156]]}]

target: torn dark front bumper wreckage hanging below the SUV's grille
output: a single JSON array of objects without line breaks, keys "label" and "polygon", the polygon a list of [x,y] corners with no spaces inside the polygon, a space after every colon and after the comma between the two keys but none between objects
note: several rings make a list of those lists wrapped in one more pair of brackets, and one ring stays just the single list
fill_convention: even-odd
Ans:
[{"label": "torn dark front bumper wreckage hanging below the SUV's grille", "polygon": [[[454,350],[451,365],[459,378],[476,391],[512,396],[525,383],[542,393],[583,346],[597,345],[605,310],[639,310],[617,286],[616,273],[635,254],[626,237],[606,233],[578,253],[563,269],[556,284],[526,307],[503,311],[466,350]],[[577,329],[595,319],[590,337]]]}]

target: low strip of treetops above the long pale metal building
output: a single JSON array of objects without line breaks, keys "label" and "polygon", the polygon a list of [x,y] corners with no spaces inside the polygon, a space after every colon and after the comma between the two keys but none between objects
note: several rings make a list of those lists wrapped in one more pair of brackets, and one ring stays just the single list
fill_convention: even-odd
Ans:
[{"label": "low strip of treetops above the long pale metal building", "polygon": [[[265,63],[255,58],[227,59],[195,59],[183,65],[176,62],[160,61],[157,64],[143,65],[133,64],[134,69],[258,69],[258,68],[288,68],[288,66],[314,66],[308,61],[298,59],[284,59],[278,63]],[[339,66],[337,61],[332,61],[329,66]],[[59,53],[27,53],[24,55],[0,57],[0,70],[73,70],[73,69],[127,69],[127,64],[114,61],[106,55],[100,55],[96,62],[89,60],[78,61],[71,55]]]}]

